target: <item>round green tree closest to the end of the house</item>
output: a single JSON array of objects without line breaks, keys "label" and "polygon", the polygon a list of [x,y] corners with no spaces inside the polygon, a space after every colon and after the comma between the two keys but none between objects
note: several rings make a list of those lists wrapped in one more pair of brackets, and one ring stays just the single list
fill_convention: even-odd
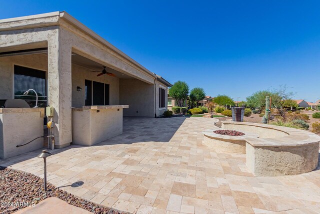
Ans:
[{"label": "round green tree closest to the end of the house", "polygon": [[175,99],[179,107],[183,107],[183,103],[188,98],[189,86],[186,82],[177,81],[169,89],[169,96]]}]

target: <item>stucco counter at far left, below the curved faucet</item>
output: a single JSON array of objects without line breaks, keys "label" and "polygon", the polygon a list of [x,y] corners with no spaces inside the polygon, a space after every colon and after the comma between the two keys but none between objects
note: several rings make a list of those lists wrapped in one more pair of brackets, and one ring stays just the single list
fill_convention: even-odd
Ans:
[{"label": "stucco counter at far left, below the curved faucet", "polygon": [[43,147],[44,108],[0,108],[0,158],[9,158]]}]

